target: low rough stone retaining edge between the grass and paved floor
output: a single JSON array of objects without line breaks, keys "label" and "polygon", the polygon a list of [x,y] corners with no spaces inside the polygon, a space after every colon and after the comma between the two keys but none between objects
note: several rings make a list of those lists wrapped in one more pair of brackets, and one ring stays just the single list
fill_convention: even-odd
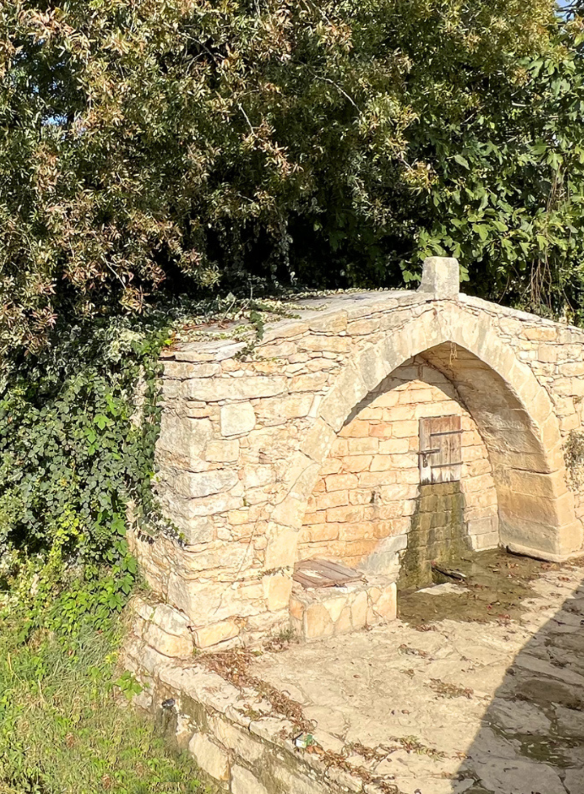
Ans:
[{"label": "low rough stone retaining edge between the grass and paved floor", "polygon": [[392,784],[391,775],[373,780],[369,770],[328,752],[331,737],[324,731],[312,734],[315,752],[298,744],[299,734],[306,736],[302,728],[274,712],[248,684],[237,688],[197,662],[165,658],[136,636],[126,641],[123,661],[145,686],[134,707],[153,717],[176,747],[188,750],[203,781],[219,791],[382,794]]}]

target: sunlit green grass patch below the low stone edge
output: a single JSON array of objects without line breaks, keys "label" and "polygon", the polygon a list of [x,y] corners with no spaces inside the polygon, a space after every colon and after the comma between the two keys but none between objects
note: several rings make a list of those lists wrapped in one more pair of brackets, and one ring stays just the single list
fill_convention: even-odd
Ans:
[{"label": "sunlit green grass patch below the low stone edge", "polygon": [[203,794],[189,757],[114,685],[121,636],[117,619],[75,642],[40,630],[23,644],[0,617],[0,794]]}]

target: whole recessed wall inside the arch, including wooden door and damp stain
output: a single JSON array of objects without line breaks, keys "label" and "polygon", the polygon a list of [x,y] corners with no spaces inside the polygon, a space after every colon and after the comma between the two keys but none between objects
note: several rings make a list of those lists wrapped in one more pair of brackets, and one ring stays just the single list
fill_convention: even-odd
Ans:
[{"label": "whole recessed wall inside the arch, including wooden door and damp stain", "polygon": [[498,545],[489,449],[454,379],[431,360],[405,361],[346,419],[308,500],[299,560],[400,573],[404,586],[423,586],[432,561]]}]

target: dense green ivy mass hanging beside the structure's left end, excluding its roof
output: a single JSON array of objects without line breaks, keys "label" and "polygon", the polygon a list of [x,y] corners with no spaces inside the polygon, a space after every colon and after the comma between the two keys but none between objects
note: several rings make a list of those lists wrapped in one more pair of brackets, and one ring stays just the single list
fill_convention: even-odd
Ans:
[{"label": "dense green ivy mass hanging beside the structure's left end, excluding its roof", "polygon": [[[128,503],[137,505],[141,520],[157,520],[151,490],[157,358],[167,336],[164,325],[148,322],[76,326],[6,376],[0,392],[3,576],[10,587],[14,576],[34,572],[41,609],[65,574],[72,579],[73,607],[88,598],[87,582],[99,580],[95,619],[121,608],[130,593],[136,562],[125,538]],[[83,565],[83,576],[75,577],[74,561]],[[107,580],[103,565],[110,569]],[[59,620],[61,628],[75,625],[67,601]]]}]

